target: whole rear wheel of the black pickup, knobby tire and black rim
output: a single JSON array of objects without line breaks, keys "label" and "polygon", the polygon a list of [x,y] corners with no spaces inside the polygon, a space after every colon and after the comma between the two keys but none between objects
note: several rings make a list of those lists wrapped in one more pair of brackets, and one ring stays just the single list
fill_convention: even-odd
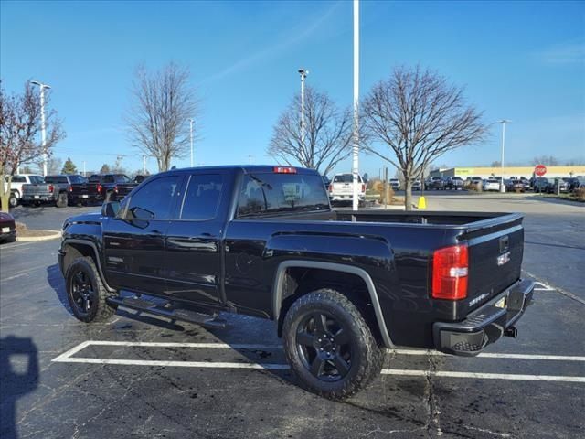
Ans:
[{"label": "whole rear wheel of the black pickup, knobby tire and black rim", "polygon": [[309,390],[341,400],[364,389],[382,368],[384,350],[364,316],[331,289],[305,294],[284,318],[284,351]]}]

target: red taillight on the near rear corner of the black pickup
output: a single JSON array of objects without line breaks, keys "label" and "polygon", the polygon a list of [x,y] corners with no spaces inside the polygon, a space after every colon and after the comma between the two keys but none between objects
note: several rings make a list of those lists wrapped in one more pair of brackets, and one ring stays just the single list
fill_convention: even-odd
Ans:
[{"label": "red taillight on the near rear corner of the black pickup", "polygon": [[468,263],[466,245],[436,250],[432,255],[432,297],[446,300],[467,297]]}]

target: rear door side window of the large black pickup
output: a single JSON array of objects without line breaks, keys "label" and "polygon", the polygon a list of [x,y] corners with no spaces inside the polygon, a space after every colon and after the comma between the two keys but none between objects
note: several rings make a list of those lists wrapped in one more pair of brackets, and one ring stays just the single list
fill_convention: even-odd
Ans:
[{"label": "rear door side window of the large black pickup", "polygon": [[223,177],[219,174],[191,176],[186,188],[181,219],[214,219],[218,214]]}]

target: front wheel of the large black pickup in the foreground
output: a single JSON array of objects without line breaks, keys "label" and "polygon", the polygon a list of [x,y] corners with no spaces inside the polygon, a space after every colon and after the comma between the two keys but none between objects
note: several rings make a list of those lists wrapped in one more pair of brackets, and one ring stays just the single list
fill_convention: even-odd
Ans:
[{"label": "front wheel of the large black pickup in the foreground", "polygon": [[65,275],[67,298],[73,315],[82,322],[105,322],[115,308],[106,303],[110,293],[101,282],[93,260],[86,256],[69,265]]}]

